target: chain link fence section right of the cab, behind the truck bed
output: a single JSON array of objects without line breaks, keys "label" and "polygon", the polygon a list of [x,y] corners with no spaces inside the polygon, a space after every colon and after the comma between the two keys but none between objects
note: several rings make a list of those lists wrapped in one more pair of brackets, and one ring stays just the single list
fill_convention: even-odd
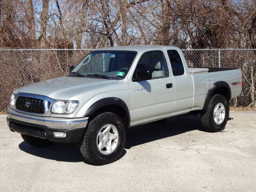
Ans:
[{"label": "chain link fence section right of the cab, behind the truck bed", "polygon": [[256,50],[182,50],[189,67],[242,69],[243,94],[230,100],[231,107],[254,107],[256,97]]}]

